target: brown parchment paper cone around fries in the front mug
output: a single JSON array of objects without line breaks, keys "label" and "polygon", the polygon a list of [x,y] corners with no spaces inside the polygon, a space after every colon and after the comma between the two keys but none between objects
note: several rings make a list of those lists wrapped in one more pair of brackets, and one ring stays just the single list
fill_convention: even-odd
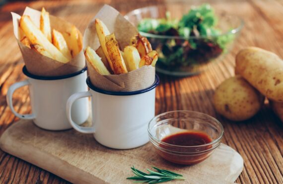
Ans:
[{"label": "brown parchment paper cone around fries in the front mug", "polygon": [[[100,46],[95,29],[95,19],[102,20],[110,33],[115,34],[122,50],[128,46],[131,38],[138,34],[138,30],[124,18],[116,9],[104,5],[88,24],[83,35],[84,49],[90,46],[96,50]],[[86,62],[88,63],[88,62]],[[88,65],[88,64],[87,64]],[[121,75],[102,76],[92,66],[87,67],[92,85],[102,90],[112,92],[133,92],[150,87],[155,80],[155,67],[143,66],[140,69]]]}]

